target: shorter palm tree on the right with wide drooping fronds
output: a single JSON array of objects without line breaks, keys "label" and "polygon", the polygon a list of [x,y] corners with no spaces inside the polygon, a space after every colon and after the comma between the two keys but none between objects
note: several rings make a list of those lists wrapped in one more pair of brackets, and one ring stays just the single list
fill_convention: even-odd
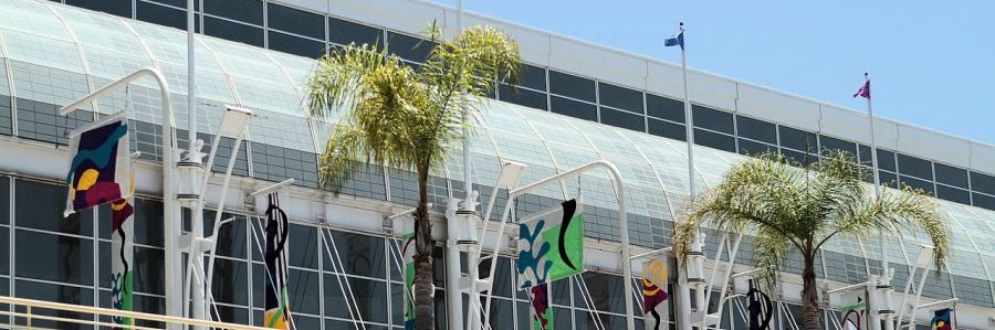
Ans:
[{"label": "shorter palm tree on the right with wide drooping fronds", "polygon": [[754,230],[753,262],[767,268],[768,287],[773,287],[786,254],[802,255],[804,327],[821,329],[815,259],[832,237],[922,230],[935,246],[936,265],[943,265],[950,248],[950,230],[932,198],[908,188],[881,189],[873,195],[871,188],[861,184],[865,174],[848,152],[827,153],[809,166],[776,155],[748,159],[733,167],[719,185],[692,200],[674,230],[678,257],[685,258],[703,222],[732,232]]}]

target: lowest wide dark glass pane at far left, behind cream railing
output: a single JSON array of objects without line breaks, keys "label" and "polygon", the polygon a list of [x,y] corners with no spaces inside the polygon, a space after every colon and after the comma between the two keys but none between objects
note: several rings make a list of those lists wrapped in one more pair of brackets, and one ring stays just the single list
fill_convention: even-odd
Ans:
[{"label": "lowest wide dark glass pane at far left, behind cream railing", "polygon": [[[81,288],[73,287],[67,285],[52,285],[44,284],[31,280],[17,280],[14,283],[14,296],[18,298],[27,298],[27,299],[35,299],[35,300],[45,300],[53,302],[62,302],[62,304],[72,304],[72,305],[82,305],[82,306],[93,306],[93,289],[92,288]],[[80,313],[74,311],[53,311],[49,309],[39,309],[39,315],[50,316],[50,317],[60,317],[66,319],[90,319],[93,318],[92,315]],[[24,326],[23,318],[17,318],[17,323]],[[53,322],[34,319],[31,322],[31,326],[39,327],[42,329],[93,329],[90,326],[82,326],[78,323],[67,323],[67,322]]]}]

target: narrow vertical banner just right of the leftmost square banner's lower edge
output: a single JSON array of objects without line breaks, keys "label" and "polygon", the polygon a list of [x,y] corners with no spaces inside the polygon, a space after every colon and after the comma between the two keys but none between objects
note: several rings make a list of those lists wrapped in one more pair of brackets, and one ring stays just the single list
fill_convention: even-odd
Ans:
[{"label": "narrow vertical banner just right of the leftmost square banner's lower edge", "polygon": [[[135,207],[132,199],[117,200],[111,203],[111,306],[117,310],[134,310],[132,296],[133,258],[135,255],[134,235]],[[130,318],[114,317],[113,322],[133,326]],[[113,328],[118,329],[118,328]]]}]

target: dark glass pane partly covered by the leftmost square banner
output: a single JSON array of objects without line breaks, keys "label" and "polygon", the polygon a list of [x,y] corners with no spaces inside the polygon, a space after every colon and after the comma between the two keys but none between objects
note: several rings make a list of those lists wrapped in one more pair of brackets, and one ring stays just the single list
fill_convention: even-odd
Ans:
[{"label": "dark glass pane partly covered by the leftmost square banner", "polygon": [[[19,226],[77,235],[93,235],[93,211],[73,213],[63,217],[67,188],[40,182],[18,180],[14,184],[14,219]],[[28,207],[27,205],[31,205]]]}]

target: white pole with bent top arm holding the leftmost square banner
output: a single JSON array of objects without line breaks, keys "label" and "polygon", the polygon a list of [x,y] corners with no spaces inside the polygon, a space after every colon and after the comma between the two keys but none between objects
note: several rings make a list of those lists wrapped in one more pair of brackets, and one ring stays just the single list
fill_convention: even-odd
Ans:
[{"label": "white pole with bent top arm holding the leftmost square banner", "polygon": [[[182,270],[180,268],[179,253],[179,234],[180,219],[179,204],[176,200],[176,156],[177,151],[176,138],[172,136],[172,129],[176,126],[172,118],[172,104],[170,103],[169,84],[166,77],[156,68],[146,67],[138,70],[103,88],[91,93],[83,98],[73,102],[61,109],[60,116],[69,115],[76,109],[88,105],[91,102],[98,99],[109,93],[125,88],[132,82],[143,77],[153,77],[159,85],[160,97],[163,99],[163,201],[164,201],[164,219],[163,232],[165,237],[166,260],[165,260],[165,289],[166,289],[166,315],[170,317],[182,316],[182,300],[178,290],[182,288]],[[178,324],[169,324],[169,329],[178,329]]]}]

